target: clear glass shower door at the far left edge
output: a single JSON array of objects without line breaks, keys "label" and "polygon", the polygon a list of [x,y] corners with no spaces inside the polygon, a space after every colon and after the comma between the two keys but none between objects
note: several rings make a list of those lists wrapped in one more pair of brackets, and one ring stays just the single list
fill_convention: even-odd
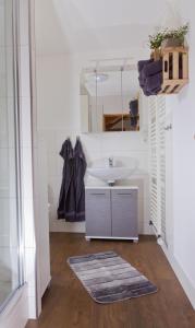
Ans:
[{"label": "clear glass shower door at the far left edge", "polygon": [[0,309],[22,283],[14,2],[0,0]]}]

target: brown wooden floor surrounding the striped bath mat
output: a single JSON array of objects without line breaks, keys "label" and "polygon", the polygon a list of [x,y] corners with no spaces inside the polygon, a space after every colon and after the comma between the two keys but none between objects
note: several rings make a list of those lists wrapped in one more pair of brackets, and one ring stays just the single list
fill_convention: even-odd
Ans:
[{"label": "brown wooden floor surrounding the striped bath mat", "polygon": [[[139,298],[96,304],[66,265],[69,256],[115,250],[159,291]],[[50,289],[42,313],[26,328],[195,328],[193,311],[160,246],[153,237],[130,242],[86,242],[82,234],[51,234]]]}]

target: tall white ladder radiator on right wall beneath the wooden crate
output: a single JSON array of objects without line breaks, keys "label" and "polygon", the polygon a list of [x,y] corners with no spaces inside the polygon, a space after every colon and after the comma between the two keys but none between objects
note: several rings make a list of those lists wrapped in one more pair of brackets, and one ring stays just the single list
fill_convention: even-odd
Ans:
[{"label": "tall white ladder radiator on right wall beneath the wooden crate", "polygon": [[155,233],[166,241],[166,98],[150,96],[149,159],[150,159],[150,221]]}]

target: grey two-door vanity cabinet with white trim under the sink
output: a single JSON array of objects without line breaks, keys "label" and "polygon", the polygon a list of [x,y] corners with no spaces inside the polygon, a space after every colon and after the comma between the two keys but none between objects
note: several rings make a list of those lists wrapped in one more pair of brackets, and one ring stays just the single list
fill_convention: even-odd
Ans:
[{"label": "grey two-door vanity cabinet with white trim under the sink", "polygon": [[136,187],[86,188],[86,238],[138,239]]}]

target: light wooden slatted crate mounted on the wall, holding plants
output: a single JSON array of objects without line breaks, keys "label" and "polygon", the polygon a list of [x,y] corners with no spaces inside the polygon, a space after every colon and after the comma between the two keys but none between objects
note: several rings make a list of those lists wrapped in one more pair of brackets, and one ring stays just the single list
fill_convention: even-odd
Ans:
[{"label": "light wooden slatted crate mounted on the wall, holding plants", "polygon": [[161,58],[163,82],[159,94],[176,94],[188,83],[188,48],[163,48]]}]

